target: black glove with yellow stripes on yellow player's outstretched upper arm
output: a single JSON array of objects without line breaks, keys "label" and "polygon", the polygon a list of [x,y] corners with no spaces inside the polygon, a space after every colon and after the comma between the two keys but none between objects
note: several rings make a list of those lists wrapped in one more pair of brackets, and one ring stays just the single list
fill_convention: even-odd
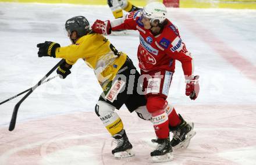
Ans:
[{"label": "black glove with yellow stripes on yellow player's outstretched upper arm", "polygon": [[61,47],[61,45],[51,41],[45,41],[44,43],[37,44],[37,48],[39,48],[39,51],[37,52],[38,57],[51,56],[55,58],[55,49],[58,47]]}]

